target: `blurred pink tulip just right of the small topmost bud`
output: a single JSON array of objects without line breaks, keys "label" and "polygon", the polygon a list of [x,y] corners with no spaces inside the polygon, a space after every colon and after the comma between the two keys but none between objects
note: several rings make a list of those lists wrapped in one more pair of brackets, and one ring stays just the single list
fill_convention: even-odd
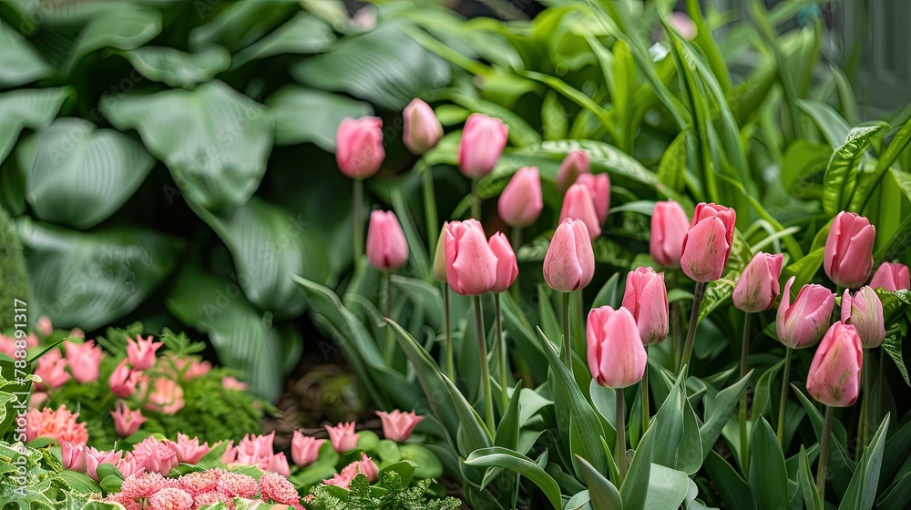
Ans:
[{"label": "blurred pink tulip just right of the small topmost bud", "polygon": [[490,173],[507,145],[509,128],[499,118],[473,113],[468,116],[458,144],[458,166],[471,179]]}]

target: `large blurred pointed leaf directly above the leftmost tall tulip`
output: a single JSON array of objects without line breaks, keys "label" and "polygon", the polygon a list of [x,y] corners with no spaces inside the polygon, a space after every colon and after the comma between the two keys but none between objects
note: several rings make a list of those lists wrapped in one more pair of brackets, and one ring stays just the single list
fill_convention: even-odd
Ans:
[{"label": "large blurred pointed leaf directly above the leftmost tall tulip", "polygon": [[332,51],[293,65],[290,72],[303,85],[347,92],[392,110],[450,80],[445,61],[408,36],[402,22],[347,37]]}]

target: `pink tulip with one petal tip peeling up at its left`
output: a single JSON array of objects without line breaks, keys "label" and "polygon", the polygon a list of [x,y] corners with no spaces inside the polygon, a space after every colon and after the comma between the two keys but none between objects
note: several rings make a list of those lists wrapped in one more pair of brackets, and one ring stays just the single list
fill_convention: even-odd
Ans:
[{"label": "pink tulip with one petal tip peeling up at its left", "polygon": [[778,340],[792,349],[812,347],[823,338],[835,305],[835,295],[822,285],[809,284],[791,302],[791,277],[784,284],[782,302],[778,305],[775,331]]}]

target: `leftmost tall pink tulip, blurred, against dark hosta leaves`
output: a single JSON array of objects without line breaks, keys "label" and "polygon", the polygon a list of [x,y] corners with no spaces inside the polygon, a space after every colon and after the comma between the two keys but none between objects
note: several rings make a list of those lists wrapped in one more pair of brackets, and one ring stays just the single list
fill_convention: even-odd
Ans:
[{"label": "leftmost tall pink tulip, blurred, against dark hosta leaves", "polygon": [[345,118],[335,132],[335,160],[352,179],[367,179],[383,164],[383,120],[379,117]]}]

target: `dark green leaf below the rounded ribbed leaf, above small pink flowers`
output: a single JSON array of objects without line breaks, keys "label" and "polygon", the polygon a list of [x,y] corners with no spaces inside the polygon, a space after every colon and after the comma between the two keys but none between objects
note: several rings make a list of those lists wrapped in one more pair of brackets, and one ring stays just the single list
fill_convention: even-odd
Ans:
[{"label": "dark green leaf below the rounded ribbed leaf, above small pink flowers", "polygon": [[91,331],[133,311],[178,261],[182,243],[159,232],[113,228],[91,233],[20,219],[36,316]]}]

